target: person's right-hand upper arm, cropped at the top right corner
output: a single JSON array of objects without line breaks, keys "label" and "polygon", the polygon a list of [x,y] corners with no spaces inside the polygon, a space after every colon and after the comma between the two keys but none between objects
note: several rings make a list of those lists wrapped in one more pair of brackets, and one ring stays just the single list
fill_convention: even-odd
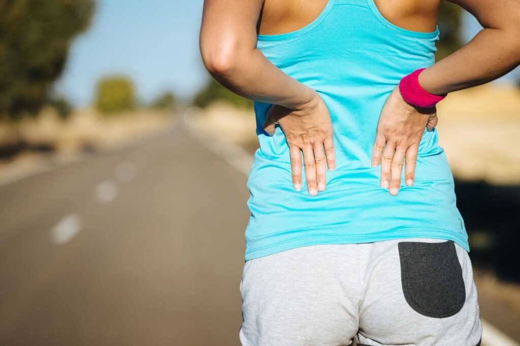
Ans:
[{"label": "person's right-hand upper arm, cropped at the top right corner", "polygon": [[520,31],[519,0],[447,0],[470,12],[483,27]]}]

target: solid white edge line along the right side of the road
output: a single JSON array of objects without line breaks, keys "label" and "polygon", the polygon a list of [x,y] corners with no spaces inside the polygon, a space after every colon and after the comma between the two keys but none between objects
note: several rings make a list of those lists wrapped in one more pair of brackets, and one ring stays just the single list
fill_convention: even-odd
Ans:
[{"label": "solid white edge line along the right side of the road", "polygon": [[[191,126],[188,133],[198,139],[206,148],[210,149],[213,153],[226,160],[238,171],[245,174],[245,176],[249,175],[253,162],[253,155],[248,153],[244,148],[231,142],[225,142],[220,137],[200,133],[199,131],[194,130]],[[482,346],[520,346],[519,343],[502,333],[502,331],[486,320],[482,318],[480,320],[482,320],[483,328]]]}]

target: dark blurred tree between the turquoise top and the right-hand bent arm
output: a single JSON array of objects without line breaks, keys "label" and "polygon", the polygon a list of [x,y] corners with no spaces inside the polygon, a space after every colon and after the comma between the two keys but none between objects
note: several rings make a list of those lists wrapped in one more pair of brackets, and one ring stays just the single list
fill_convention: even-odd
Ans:
[{"label": "dark blurred tree between the turquoise top and the right-hand bent arm", "polygon": [[462,8],[458,5],[446,1],[440,2],[437,21],[439,41],[437,43],[437,53],[435,54],[436,61],[447,57],[462,47],[462,39],[460,37],[462,11]]}]

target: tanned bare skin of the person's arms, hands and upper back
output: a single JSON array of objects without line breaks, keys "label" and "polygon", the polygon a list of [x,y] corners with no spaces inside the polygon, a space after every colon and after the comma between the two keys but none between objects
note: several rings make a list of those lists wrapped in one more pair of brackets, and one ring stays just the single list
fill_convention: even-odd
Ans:
[{"label": "tanned bare skin of the person's arms, hands and upper back", "polygon": [[[518,0],[450,0],[474,15],[484,29],[468,44],[426,68],[419,84],[445,94],[494,80],[520,64]],[[207,70],[231,91],[272,104],[264,129],[278,124],[289,145],[292,179],[301,189],[302,162],[310,195],[326,185],[325,171],[335,168],[332,123],[318,93],[284,74],[256,49],[257,34],[294,31],[316,18],[326,0],[205,0],[200,50]],[[375,0],[381,14],[404,29],[435,30],[440,0]],[[436,109],[406,103],[398,88],[380,115],[372,165],[381,163],[381,186],[397,195],[402,168],[412,185],[424,128],[437,124]],[[406,161],[406,162],[405,162]]]}]

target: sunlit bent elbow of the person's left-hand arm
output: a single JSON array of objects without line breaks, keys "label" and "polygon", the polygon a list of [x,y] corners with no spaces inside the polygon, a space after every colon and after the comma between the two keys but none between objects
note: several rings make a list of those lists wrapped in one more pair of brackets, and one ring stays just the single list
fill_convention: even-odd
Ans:
[{"label": "sunlit bent elbow of the person's left-hand arm", "polygon": [[201,40],[201,57],[213,76],[226,78],[233,74],[239,61],[239,49],[232,38]]}]

